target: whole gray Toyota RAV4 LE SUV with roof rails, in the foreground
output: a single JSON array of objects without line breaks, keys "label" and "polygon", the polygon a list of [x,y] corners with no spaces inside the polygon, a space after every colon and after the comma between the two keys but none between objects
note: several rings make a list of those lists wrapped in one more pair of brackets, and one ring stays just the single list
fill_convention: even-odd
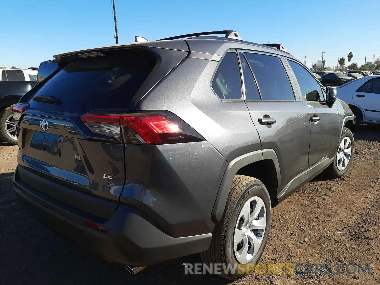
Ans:
[{"label": "whole gray Toyota RAV4 LE SUV with roof rails, in the foreground", "polygon": [[135,41],[56,55],[12,106],[16,196],[130,271],[201,253],[244,277],[233,266],[260,258],[271,208],[346,173],[353,114],[281,44],[231,30]]}]

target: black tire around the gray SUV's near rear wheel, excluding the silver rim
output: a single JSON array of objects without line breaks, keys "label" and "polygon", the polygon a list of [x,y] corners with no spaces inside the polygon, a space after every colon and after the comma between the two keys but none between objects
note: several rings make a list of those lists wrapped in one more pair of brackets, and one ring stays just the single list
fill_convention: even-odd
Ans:
[{"label": "black tire around the gray SUV's near rear wheel, excluding the silver rim", "polygon": [[[209,249],[201,252],[203,263],[207,266],[210,264],[240,264],[236,260],[233,250],[234,230],[237,223],[238,215],[245,202],[253,196],[258,196],[264,201],[266,209],[266,226],[260,248],[255,256],[247,264],[256,265],[263,254],[266,242],[269,236],[271,226],[272,207],[268,190],[260,180],[243,175],[235,175],[231,185],[231,192],[222,216],[222,220],[215,227],[212,234],[212,241]],[[239,268],[239,267],[236,267]],[[254,267],[250,267],[251,271]],[[249,274],[249,271],[238,271],[227,273],[222,269],[221,276],[229,280],[237,280]]]}]

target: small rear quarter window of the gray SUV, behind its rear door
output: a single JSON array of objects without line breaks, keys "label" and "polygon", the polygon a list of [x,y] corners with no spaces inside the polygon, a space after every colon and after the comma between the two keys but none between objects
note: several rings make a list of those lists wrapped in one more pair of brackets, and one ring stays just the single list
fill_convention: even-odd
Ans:
[{"label": "small rear quarter window of the gray SUV, behind its rear door", "polygon": [[242,97],[241,76],[236,52],[228,52],[219,64],[212,80],[212,89],[222,99]]}]

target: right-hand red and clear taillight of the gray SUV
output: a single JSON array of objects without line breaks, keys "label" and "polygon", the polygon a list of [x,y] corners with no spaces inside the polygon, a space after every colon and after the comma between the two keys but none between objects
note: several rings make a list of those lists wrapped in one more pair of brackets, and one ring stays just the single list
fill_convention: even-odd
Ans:
[{"label": "right-hand red and clear taillight of the gray SUV", "polygon": [[124,143],[172,144],[203,140],[189,125],[169,112],[86,114],[81,120],[94,133]]}]

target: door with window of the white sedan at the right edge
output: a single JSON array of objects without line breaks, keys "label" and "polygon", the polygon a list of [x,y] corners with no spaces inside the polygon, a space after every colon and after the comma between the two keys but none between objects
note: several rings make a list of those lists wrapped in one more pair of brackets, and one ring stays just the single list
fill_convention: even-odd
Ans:
[{"label": "door with window of the white sedan at the right edge", "polygon": [[380,78],[367,80],[353,93],[352,100],[364,111],[364,120],[380,122]]}]

